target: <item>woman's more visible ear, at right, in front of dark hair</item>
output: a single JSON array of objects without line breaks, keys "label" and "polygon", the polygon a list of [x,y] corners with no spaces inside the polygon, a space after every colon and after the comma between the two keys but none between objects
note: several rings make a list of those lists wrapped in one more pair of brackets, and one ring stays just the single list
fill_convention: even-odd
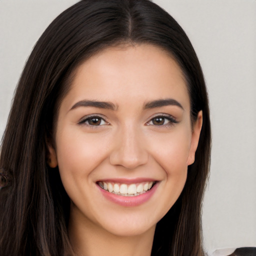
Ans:
[{"label": "woman's more visible ear, at right, in front of dark hair", "polygon": [[202,127],[202,110],[198,112],[197,119],[192,127],[192,136],[191,136],[189,153],[187,157],[187,165],[190,165],[194,162],[194,155],[198,145],[201,127]]}]

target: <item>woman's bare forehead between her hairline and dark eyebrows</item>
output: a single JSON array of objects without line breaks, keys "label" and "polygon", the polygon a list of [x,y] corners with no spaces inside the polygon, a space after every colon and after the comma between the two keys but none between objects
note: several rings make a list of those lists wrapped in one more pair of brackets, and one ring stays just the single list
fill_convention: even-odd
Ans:
[{"label": "woman's bare forehead between her hairline and dark eyebrows", "polygon": [[170,97],[189,108],[179,65],[165,50],[138,44],[108,47],[81,63],[63,101],[71,106],[86,98],[120,105]]}]

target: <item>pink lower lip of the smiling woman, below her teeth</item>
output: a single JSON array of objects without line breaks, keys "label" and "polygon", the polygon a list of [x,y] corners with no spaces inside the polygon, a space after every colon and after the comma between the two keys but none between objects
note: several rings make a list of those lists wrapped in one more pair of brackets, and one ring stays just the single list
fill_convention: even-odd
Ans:
[{"label": "pink lower lip of the smiling woman, below her teeth", "polygon": [[104,190],[100,186],[98,187],[101,193],[103,194],[103,196],[105,196],[110,201],[113,201],[122,206],[137,206],[148,201],[151,198],[151,196],[153,195],[153,193],[157,188],[157,185],[158,185],[158,182],[154,184],[154,186],[151,189],[147,190],[146,192],[140,195],[135,195],[135,196],[123,196],[119,194],[114,194],[114,193],[108,192],[107,190]]}]

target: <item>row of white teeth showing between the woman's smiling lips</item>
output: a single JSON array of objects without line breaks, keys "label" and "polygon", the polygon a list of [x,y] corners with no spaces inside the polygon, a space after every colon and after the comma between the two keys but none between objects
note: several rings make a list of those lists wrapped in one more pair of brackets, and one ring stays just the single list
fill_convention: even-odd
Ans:
[{"label": "row of white teeth showing between the woman's smiling lips", "polygon": [[148,181],[141,183],[132,183],[132,184],[124,184],[124,183],[114,183],[114,182],[105,182],[98,181],[97,184],[104,190],[118,195],[123,196],[137,196],[146,191],[150,190],[156,181]]}]

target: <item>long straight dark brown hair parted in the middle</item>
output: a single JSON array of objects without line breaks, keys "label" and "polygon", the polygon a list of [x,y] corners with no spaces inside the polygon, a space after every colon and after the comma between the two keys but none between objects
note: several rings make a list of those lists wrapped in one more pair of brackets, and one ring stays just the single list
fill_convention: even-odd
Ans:
[{"label": "long straight dark brown hair parted in the middle", "polygon": [[183,71],[191,120],[202,110],[195,161],[182,193],[157,223],[151,255],[201,256],[201,202],[210,160],[208,98],[199,61],[178,23],[149,0],[81,0],[62,12],[35,44],[19,79],[4,132],[0,167],[0,255],[71,254],[69,198],[57,167],[46,163],[54,116],[75,68],[123,43],[165,49]]}]

